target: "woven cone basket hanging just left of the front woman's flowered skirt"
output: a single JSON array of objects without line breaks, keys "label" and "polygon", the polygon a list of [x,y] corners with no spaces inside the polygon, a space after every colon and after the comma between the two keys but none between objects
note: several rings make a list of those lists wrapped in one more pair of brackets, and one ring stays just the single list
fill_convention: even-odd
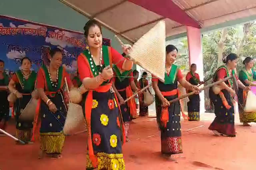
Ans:
[{"label": "woven cone basket hanging just left of the front woman's flowered skirt", "polygon": [[66,135],[73,135],[87,131],[83,110],[80,105],[69,103],[67,118],[63,128]]}]

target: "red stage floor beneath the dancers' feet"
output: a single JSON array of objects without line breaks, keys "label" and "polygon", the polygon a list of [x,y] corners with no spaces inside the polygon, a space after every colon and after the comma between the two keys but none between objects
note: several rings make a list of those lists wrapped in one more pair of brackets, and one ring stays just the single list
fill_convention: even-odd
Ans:
[{"label": "red stage floor beneath the dancers' feet", "polygon": [[[207,129],[214,114],[201,115],[200,122],[181,121],[183,154],[177,161],[163,158],[156,119],[134,120],[130,128],[130,143],[123,147],[126,170],[248,170],[255,169],[256,124],[242,127],[236,123],[237,137],[213,136]],[[238,121],[238,115],[236,115]],[[194,128],[192,130],[188,130]],[[8,132],[14,134],[15,126]],[[62,159],[37,159],[39,143],[15,145],[9,137],[0,137],[1,170],[85,170],[86,146],[84,134],[67,136]]]}]

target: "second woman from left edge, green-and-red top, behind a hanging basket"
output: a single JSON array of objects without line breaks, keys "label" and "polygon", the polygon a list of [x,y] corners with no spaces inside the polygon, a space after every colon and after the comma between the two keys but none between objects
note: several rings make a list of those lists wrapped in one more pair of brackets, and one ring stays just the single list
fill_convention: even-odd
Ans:
[{"label": "second woman from left edge, green-and-red top, behind a hanging basket", "polygon": [[[29,58],[22,58],[21,70],[15,72],[8,85],[10,92],[17,97],[14,103],[16,113],[16,136],[26,144],[33,143],[30,141],[33,123],[31,121],[21,121],[19,120],[19,116],[30,101],[31,93],[35,88],[36,73],[35,71],[31,71],[30,68],[31,62]],[[16,144],[20,144],[20,142],[16,141]]]}]

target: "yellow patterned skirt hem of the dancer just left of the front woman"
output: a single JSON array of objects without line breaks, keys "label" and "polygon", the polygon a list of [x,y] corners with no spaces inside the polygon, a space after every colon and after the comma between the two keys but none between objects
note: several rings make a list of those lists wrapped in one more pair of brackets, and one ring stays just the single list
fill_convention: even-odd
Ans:
[{"label": "yellow patterned skirt hem of the dancer just left of the front woman", "polygon": [[47,154],[58,154],[62,152],[65,141],[63,132],[40,133],[40,149]]}]

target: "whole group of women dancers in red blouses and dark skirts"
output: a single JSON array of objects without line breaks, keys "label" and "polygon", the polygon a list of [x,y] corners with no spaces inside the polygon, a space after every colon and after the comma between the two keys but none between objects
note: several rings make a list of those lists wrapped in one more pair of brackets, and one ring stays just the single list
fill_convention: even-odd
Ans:
[{"label": "whole group of women dancers in red blouses and dark skirts", "polygon": [[[37,133],[40,133],[39,158],[45,154],[54,158],[61,158],[65,141],[63,125],[68,111],[68,92],[65,89],[65,79],[68,88],[80,87],[90,89],[83,94],[80,105],[88,128],[87,169],[115,169],[124,170],[122,145],[129,142],[128,131],[130,123],[139,116],[148,116],[148,105],[144,103],[144,95],[140,89],[146,87],[147,72],[143,72],[138,81],[139,72],[132,70],[133,61],[126,55],[131,50],[130,45],[123,45],[123,54],[114,48],[102,45],[101,26],[95,20],[90,20],[84,27],[84,35],[89,46],[78,56],[78,72],[71,81],[62,66],[62,53],[59,48],[52,49],[49,54],[49,65],[43,65],[38,72],[31,71],[29,58],[21,60],[21,69],[16,71],[10,79],[4,73],[4,61],[0,60],[0,128],[6,129],[9,119],[9,93],[14,94],[16,101],[13,105],[13,115],[16,120],[16,137],[26,144],[33,144]],[[174,45],[166,46],[166,71],[164,83],[152,75],[152,86],[155,91],[157,123],[161,131],[161,152],[167,157],[182,153],[180,115],[182,112],[179,101],[169,103],[179,97],[178,83],[186,88],[189,96],[189,121],[200,120],[200,98],[198,85],[203,84],[196,73],[196,65],[192,64],[190,72],[183,77],[179,66],[175,65],[178,49]],[[247,57],[244,68],[236,75],[237,55],[229,54],[224,65],[217,68],[213,82],[234,75],[238,82],[238,103],[240,121],[244,126],[256,122],[256,113],[243,111],[246,94],[256,79],[256,72],[252,69],[253,60]],[[233,81],[227,80],[220,84],[219,94],[209,90],[211,103],[216,115],[209,129],[215,135],[234,137],[234,102],[235,91]],[[67,88],[67,87],[66,87]],[[39,101],[34,121],[21,121],[20,114],[37,90]],[[125,102],[127,98],[138,92],[138,96]],[[86,143],[87,143],[86,142]],[[17,142],[19,144],[19,142]]]}]

